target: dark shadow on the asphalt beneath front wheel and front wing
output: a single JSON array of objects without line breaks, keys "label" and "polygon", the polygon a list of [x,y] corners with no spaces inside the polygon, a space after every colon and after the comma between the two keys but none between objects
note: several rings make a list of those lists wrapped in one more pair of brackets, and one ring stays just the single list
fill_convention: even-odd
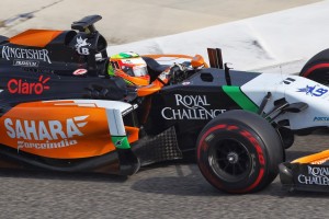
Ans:
[{"label": "dark shadow on the asphalt beneath front wheel and front wing", "polygon": [[[179,165],[175,165],[180,169]],[[196,165],[189,165],[193,171],[197,169]],[[154,193],[161,195],[177,195],[177,196],[272,196],[276,198],[328,198],[329,193],[314,193],[288,191],[282,187],[279,176],[264,189],[252,194],[227,194],[213,187],[201,173],[192,173],[182,176],[158,176],[143,178],[134,183],[131,187],[133,191],[140,193]]]}]

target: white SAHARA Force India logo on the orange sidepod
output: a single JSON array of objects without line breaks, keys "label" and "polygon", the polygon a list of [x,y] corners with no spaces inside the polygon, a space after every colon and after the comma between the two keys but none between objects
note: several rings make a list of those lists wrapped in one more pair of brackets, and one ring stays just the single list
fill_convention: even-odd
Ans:
[{"label": "white SAHARA Force India logo on the orange sidepod", "polygon": [[65,122],[5,118],[4,127],[10,138],[18,139],[18,150],[64,148],[78,143],[75,137],[83,136],[80,128],[88,124],[87,117],[77,116]]}]

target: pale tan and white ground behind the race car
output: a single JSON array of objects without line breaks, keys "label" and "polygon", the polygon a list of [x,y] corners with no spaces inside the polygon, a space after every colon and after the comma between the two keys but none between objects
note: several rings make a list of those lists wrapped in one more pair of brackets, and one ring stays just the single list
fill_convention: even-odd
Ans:
[{"label": "pale tan and white ground behind the race car", "polygon": [[222,48],[237,70],[297,73],[328,48],[329,1],[318,0],[1,0],[0,35],[70,30],[86,15],[109,54],[200,54]]}]

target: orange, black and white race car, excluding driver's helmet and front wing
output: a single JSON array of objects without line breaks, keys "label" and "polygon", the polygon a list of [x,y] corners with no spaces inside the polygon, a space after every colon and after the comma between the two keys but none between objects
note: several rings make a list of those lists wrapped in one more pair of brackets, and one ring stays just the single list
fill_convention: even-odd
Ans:
[{"label": "orange, black and white race car, excluding driver's helmet and front wing", "polygon": [[[132,175],[195,153],[228,193],[264,188],[294,134],[328,126],[328,88],[298,76],[232,71],[219,49],[143,56],[150,84],[107,73],[106,42],[87,16],[71,31],[1,37],[0,154],[26,168]],[[159,58],[171,58],[172,66]],[[225,66],[225,68],[224,68]]]}]

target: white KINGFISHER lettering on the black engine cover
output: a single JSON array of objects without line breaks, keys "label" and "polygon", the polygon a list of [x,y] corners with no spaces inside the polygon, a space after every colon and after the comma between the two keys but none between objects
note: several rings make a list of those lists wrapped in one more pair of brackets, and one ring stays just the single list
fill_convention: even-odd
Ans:
[{"label": "white KINGFISHER lettering on the black engine cover", "polygon": [[48,64],[52,64],[48,56],[47,49],[27,49],[27,48],[13,48],[10,46],[2,47],[2,58],[10,60],[14,59],[32,59],[32,60],[42,60]]}]

